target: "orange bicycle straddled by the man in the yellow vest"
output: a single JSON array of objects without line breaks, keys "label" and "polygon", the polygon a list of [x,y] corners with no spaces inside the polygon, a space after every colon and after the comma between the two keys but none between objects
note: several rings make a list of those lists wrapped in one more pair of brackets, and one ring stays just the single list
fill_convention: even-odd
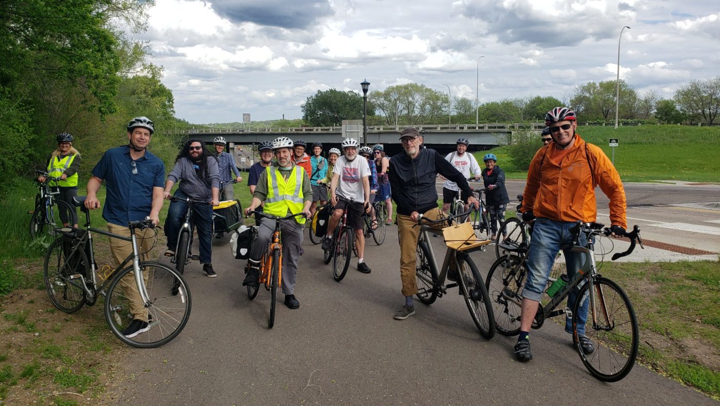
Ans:
[{"label": "orange bicycle straddled by the man in the yellow vest", "polygon": [[[281,239],[281,220],[290,220],[297,216],[305,216],[304,213],[292,214],[286,217],[273,216],[272,214],[265,213],[264,211],[251,211],[248,216],[253,213],[260,217],[269,218],[275,221],[275,231],[270,238],[268,248],[265,250],[263,257],[260,262],[260,279],[258,283],[254,285],[247,285],[248,297],[253,300],[258,295],[260,290],[260,284],[265,284],[265,290],[270,292],[270,314],[268,316],[268,328],[272,328],[275,325],[275,305],[277,302],[277,290],[282,287],[282,239]],[[250,267],[250,262],[246,264],[247,273]]]}]

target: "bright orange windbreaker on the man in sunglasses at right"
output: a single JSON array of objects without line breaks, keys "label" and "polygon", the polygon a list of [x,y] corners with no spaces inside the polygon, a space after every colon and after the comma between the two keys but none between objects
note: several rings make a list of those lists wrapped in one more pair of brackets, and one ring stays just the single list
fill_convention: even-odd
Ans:
[{"label": "bright orange windbreaker on the man in sunglasses at right", "polygon": [[[533,208],[536,217],[554,221],[596,221],[595,185],[598,185],[610,198],[611,225],[627,229],[625,189],[605,152],[583,141],[576,133],[575,144],[557,165],[550,159],[555,147],[551,142],[533,157],[523,206]],[[594,174],[588,167],[588,159]]]}]

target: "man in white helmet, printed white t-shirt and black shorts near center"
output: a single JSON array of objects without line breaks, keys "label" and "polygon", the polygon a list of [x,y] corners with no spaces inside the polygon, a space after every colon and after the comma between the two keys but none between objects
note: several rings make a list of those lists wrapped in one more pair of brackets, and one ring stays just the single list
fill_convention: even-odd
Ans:
[{"label": "man in white helmet, printed white t-shirt and black shorts near center", "polygon": [[355,245],[358,251],[358,270],[369,274],[371,269],[364,260],[365,236],[363,211],[370,211],[370,167],[367,160],[358,157],[358,142],[348,138],[341,144],[345,154],[339,157],[333,167],[330,181],[330,203],[335,206],[328,221],[328,234],[323,240],[323,249],[332,248],[333,230],[338,226],[343,210],[348,211],[348,226],[355,229]]}]

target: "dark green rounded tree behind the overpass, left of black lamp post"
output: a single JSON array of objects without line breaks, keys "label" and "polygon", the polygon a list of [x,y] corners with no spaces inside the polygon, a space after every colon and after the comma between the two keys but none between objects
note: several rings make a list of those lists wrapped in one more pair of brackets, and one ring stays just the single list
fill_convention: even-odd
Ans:
[{"label": "dark green rounded tree behind the overpass, left of black lamp post", "polygon": [[[302,104],[302,120],[311,126],[336,126],[343,120],[361,120],[363,98],[354,91],[318,91]],[[375,114],[372,103],[367,103],[367,115]]]}]

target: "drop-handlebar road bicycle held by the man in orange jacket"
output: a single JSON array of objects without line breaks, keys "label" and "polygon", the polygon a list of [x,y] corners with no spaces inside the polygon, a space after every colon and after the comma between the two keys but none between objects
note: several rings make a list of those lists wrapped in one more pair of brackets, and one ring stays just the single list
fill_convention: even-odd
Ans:
[{"label": "drop-handlebar road bicycle held by the man in orange jacket", "polygon": [[[595,262],[595,236],[608,236],[610,230],[603,229],[600,223],[577,222],[570,229],[573,234],[573,243],[562,246],[572,252],[584,253],[588,261],[575,274],[572,280],[563,278],[557,292],[550,292],[550,300],[545,305],[539,303],[538,313],[533,321],[532,328],[541,328],[544,320],[558,315],[567,315],[572,318],[572,338],[580,359],[590,374],[604,382],[617,382],[623,379],[632,369],[638,351],[638,323],[632,303],[624,290],[598,272]],[[586,246],[578,245],[580,234],[587,237]],[[626,233],[630,239],[630,246],[626,252],[613,254],[613,261],[631,254],[636,243],[641,248],[640,228],[634,226],[633,231]],[[486,287],[490,292],[495,313],[495,329],[504,336],[515,336],[520,332],[520,318],[523,297],[522,289],[527,276],[527,247],[506,246],[512,252],[500,257],[487,272]],[[521,253],[516,255],[515,253]],[[602,262],[600,262],[602,264]],[[549,286],[554,286],[549,283]],[[579,289],[577,300],[572,309],[555,310],[567,298],[573,289]],[[549,288],[550,289],[550,288]],[[554,290],[554,289],[553,289]],[[546,292],[547,293],[547,292]],[[589,296],[589,297],[588,297]],[[577,325],[579,323],[578,310],[585,300],[590,300],[588,320],[585,325],[585,335],[593,339],[598,345],[592,354],[585,354],[578,340]]]}]

